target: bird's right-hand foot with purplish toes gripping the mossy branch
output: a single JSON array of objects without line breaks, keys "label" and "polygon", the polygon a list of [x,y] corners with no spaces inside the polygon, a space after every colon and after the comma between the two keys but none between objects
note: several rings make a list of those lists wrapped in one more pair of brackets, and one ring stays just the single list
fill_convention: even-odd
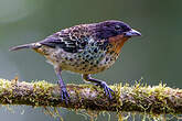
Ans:
[{"label": "bird's right-hand foot with purplish toes gripping the mossy branch", "polygon": [[108,85],[105,81],[100,81],[98,84],[96,84],[96,86],[100,86],[101,88],[104,88],[105,95],[111,100],[111,92],[115,95],[115,91],[113,89],[110,89],[108,87]]}]

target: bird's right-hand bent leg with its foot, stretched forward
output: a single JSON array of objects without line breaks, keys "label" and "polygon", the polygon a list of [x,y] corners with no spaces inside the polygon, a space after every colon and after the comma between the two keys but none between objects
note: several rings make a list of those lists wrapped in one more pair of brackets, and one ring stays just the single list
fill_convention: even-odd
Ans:
[{"label": "bird's right-hand bent leg with its foot, stretched forward", "polygon": [[111,92],[115,94],[115,91],[110,89],[105,81],[92,78],[88,74],[83,74],[83,79],[86,81],[95,82],[96,86],[104,88],[105,94],[109,99],[111,99]]}]

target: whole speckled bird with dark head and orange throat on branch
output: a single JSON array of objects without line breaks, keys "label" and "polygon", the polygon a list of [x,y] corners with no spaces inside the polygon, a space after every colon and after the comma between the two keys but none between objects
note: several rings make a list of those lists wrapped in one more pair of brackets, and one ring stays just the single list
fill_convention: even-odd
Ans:
[{"label": "whole speckled bird with dark head and orange throat on branch", "polygon": [[18,45],[10,51],[31,48],[43,55],[54,67],[61,87],[61,100],[66,103],[69,95],[62,79],[63,70],[81,74],[85,81],[99,86],[113,99],[115,91],[104,80],[92,78],[90,75],[108,69],[132,36],[141,36],[141,33],[122,21],[107,20],[63,29],[42,41]]}]

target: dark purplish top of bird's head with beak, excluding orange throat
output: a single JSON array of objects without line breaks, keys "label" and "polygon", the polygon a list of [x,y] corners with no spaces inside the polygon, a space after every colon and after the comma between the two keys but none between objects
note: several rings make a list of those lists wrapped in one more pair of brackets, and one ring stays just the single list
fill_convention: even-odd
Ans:
[{"label": "dark purplish top of bird's head with beak, excluding orange throat", "polygon": [[122,37],[140,36],[141,33],[131,29],[127,23],[116,20],[104,21],[95,24],[96,37],[104,40],[121,35]]}]

